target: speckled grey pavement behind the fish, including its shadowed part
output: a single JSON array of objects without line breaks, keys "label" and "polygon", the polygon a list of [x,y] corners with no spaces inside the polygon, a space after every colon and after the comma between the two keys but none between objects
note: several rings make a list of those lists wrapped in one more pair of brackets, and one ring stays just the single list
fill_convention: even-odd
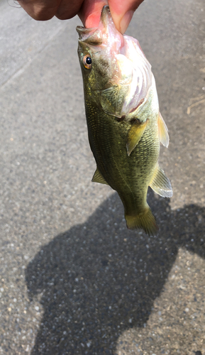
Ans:
[{"label": "speckled grey pavement behind the fish, including its shadowed part", "polygon": [[155,238],[128,231],[116,193],[91,182],[79,19],[38,23],[9,4],[0,1],[0,354],[204,355],[204,0],[147,0],[128,29],[153,65],[170,132],[160,164],[174,196],[149,192]]}]

